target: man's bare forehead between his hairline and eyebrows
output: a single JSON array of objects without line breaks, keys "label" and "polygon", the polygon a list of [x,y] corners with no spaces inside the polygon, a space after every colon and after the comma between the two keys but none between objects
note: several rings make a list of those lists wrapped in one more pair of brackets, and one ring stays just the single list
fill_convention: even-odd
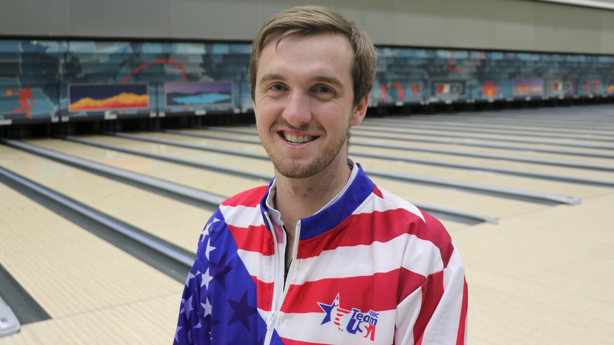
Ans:
[{"label": "man's bare forehead between his hairline and eyebrows", "polygon": [[[258,75],[263,73],[335,72],[350,77],[354,50],[341,34],[289,35],[269,37],[258,59]],[[343,76],[345,77],[345,76]]]}]

